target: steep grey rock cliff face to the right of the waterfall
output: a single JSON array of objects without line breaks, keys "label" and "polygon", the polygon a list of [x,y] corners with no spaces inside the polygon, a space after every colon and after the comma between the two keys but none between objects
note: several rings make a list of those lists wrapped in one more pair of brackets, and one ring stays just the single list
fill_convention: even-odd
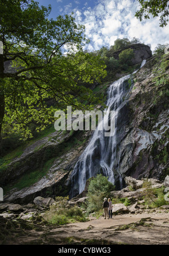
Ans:
[{"label": "steep grey rock cliff face to the right of the waterfall", "polygon": [[168,74],[169,56],[164,55],[150,58],[133,77],[128,125],[117,156],[123,178],[163,180],[168,174]]}]

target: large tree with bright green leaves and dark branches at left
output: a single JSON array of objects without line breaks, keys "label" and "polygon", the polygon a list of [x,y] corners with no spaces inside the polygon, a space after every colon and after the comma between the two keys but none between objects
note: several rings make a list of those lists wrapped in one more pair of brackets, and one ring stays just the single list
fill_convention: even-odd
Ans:
[{"label": "large tree with bright green leaves and dark branches at left", "polygon": [[101,102],[85,85],[106,76],[105,64],[83,52],[84,26],[72,15],[49,20],[50,11],[33,0],[0,0],[0,135],[28,138],[28,125],[45,129],[56,109],[84,109],[84,100],[91,109]]}]

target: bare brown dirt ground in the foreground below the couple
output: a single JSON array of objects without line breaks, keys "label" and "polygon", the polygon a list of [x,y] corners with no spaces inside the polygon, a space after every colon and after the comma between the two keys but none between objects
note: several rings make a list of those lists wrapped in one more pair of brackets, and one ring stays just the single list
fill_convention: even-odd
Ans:
[{"label": "bare brown dirt ground in the foreground below the couple", "polygon": [[[113,219],[90,218],[88,222],[64,226],[39,226],[23,220],[3,244],[51,245],[168,245],[169,213],[125,214]],[[32,226],[31,226],[32,227]],[[17,234],[17,236],[16,236]]]}]

